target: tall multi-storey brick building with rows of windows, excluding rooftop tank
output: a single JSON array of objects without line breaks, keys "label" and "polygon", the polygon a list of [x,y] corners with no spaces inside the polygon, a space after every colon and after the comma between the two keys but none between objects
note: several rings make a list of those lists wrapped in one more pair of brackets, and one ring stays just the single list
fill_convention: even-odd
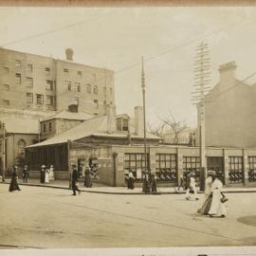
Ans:
[{"label": "tall multi-storey brick building with rows of windows, excluding rooftop tank", "polygon": [[105,114],[115,104],[114,72],[0,48],[0,106],[54,111],[78,104]]}]

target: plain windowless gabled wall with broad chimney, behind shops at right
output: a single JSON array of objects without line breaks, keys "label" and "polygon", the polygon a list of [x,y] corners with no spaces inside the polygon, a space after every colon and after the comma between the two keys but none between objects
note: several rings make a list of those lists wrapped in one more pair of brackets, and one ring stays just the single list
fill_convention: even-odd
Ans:
[{"label": "plain windowless gabled wall with broad chimney, behind shops at right", "polygon": [[256,146],[256,84],[239,81],[235,71],[234,62],[222,64],[220,81],[206,96],[207,146]]}]

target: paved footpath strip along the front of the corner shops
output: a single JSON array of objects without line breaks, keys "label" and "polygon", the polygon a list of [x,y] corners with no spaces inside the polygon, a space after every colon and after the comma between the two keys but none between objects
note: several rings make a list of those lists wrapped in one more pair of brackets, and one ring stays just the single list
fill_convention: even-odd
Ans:
[{"label": "paved footpath strip along the front of the corner shops", "polygon": [[[9,184],[9,179],[6,179],[5,183]],[[36,186],[36,187],[46,187],[54,189],[65,189],[69,190],[68,180],[53,180],[49,183],[40,183],[38,179],[29,179],[27,183],[20,182],[23,186]],[[95,193],[112,193],[112,194],[144,194],[141,188],[135,188],[134,190],[128,190],[126,187],[109,187],[101,183],[94,183],[92,188],[83,187],[82,182],[79,183],[79,188],[82,192],[95,192]],[[256,192],[256,188],[224,188],[224,192]],[[177,191],[174,187],[160,187],[157,188],[158,193],[162,194],[176,194],[185,193],[185,191]],[[199,192],[200,193],[200,192]]]}]

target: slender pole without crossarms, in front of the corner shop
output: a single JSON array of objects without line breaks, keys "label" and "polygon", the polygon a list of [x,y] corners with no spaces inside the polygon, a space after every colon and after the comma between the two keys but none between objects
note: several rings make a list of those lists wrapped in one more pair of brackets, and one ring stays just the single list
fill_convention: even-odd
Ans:
[{"label": "slender pole without crossarms, in front of the corner shop", "polygon": [[145,160],[145,174],[148,172],[147,169],[147,137],[146,137],[146,85],[145,85],[145,74],[144,74],[144,58],[141,57],[141,89],[143,97],[143,124],[144,124],[144,160]]}]

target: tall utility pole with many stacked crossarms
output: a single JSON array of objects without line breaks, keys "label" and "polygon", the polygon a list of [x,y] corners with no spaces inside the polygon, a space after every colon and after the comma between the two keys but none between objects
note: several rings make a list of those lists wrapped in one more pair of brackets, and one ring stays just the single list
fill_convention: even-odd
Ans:
[{"label": "tall utility pole with many stacked crossarms", "polygon": [[194,91],[192,101],[197,105],[197,122],[200,141],[200,190],[205,189],[206,168],[206,135],[205,135],[205,95],[210,90],[210,51],[203,42],[196,47],[194,62]]}]

